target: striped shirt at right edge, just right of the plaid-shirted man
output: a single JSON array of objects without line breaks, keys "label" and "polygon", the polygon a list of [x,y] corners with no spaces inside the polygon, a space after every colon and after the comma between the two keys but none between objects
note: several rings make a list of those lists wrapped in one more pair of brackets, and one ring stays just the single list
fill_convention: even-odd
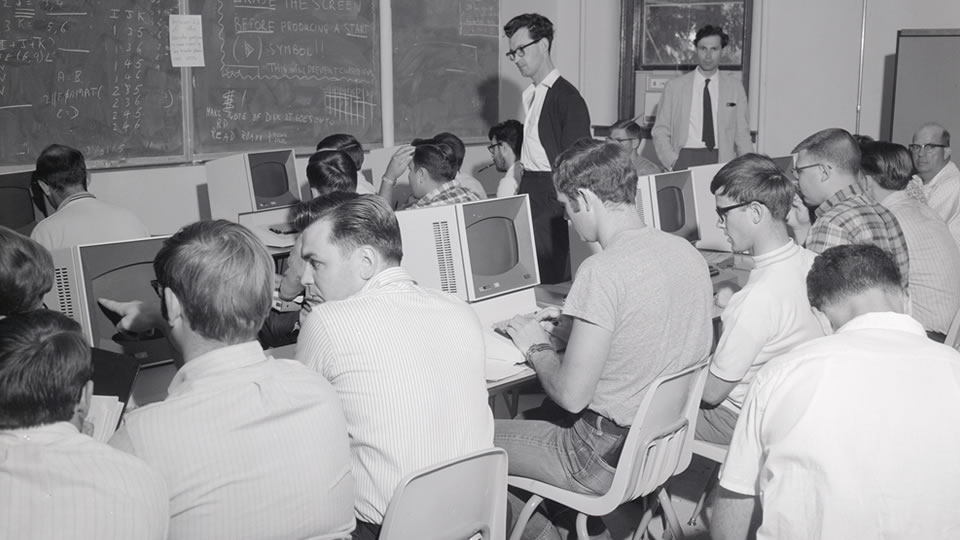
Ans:
[{"label": "striped shirt at right edge, just right of the plaid-shirted man", "polygon": [[897,217],[910,249],[911,315],[925,329],[946,334],[960,310],[960,249],[950,228],[906,191],[891,193],[880,204]]}]

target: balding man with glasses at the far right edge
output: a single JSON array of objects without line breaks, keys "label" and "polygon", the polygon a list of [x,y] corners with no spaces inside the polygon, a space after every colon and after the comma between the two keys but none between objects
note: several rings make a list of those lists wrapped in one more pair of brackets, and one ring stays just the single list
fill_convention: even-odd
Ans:
[{"label": "balding man with glasses at the far right edge", "polygon": [[912,183],[921,188],[927,204],[947,222],[960,245],[960,169],[950,161],[950,132],[940,124],[925,124],[908,148],[917,170]]}]

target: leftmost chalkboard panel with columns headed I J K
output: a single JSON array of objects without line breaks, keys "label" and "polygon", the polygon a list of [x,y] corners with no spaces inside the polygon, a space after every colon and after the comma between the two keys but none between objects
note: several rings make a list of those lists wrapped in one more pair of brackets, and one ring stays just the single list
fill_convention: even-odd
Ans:
[{"label": "leftmost chalkboard panel with columns headed I J K", "polygon": [[90,162],[184,155],[177,0],[0,1],[0,164],[48,144]]}]

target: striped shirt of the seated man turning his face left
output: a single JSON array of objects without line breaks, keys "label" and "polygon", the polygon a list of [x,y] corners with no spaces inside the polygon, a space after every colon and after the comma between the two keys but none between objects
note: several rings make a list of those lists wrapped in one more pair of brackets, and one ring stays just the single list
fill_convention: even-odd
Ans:
[{"label": "striped shirt of the seated man turning his face left", "polygon": [[314,308],[297,358],[343,401],[363,521],[383,521],[404,476],[493,446],[480,321],[400,267]]}]

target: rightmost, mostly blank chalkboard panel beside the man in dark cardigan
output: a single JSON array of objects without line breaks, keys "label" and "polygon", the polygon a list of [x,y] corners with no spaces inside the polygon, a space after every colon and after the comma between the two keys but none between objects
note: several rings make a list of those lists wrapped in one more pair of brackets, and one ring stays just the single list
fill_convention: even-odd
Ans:
[{"label": "rightmost, mostly blank chalkboard panel beside the man in dark cardigan", "polygon": [[497,0],[394,0],[398,142],[450,131],[487,140],[499,122]]}]

